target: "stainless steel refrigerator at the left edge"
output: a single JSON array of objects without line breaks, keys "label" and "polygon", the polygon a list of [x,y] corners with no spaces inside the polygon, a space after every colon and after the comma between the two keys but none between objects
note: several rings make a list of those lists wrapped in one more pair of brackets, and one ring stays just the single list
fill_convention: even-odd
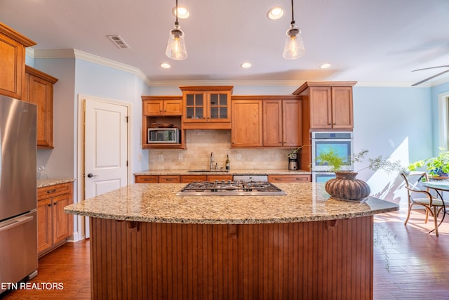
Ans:
[{"label": "stainless steel refrigerator at the left edge", "polygon": [[0,284],[3,287],[37,274],[36,194],[36,105],[0,96]]}]

